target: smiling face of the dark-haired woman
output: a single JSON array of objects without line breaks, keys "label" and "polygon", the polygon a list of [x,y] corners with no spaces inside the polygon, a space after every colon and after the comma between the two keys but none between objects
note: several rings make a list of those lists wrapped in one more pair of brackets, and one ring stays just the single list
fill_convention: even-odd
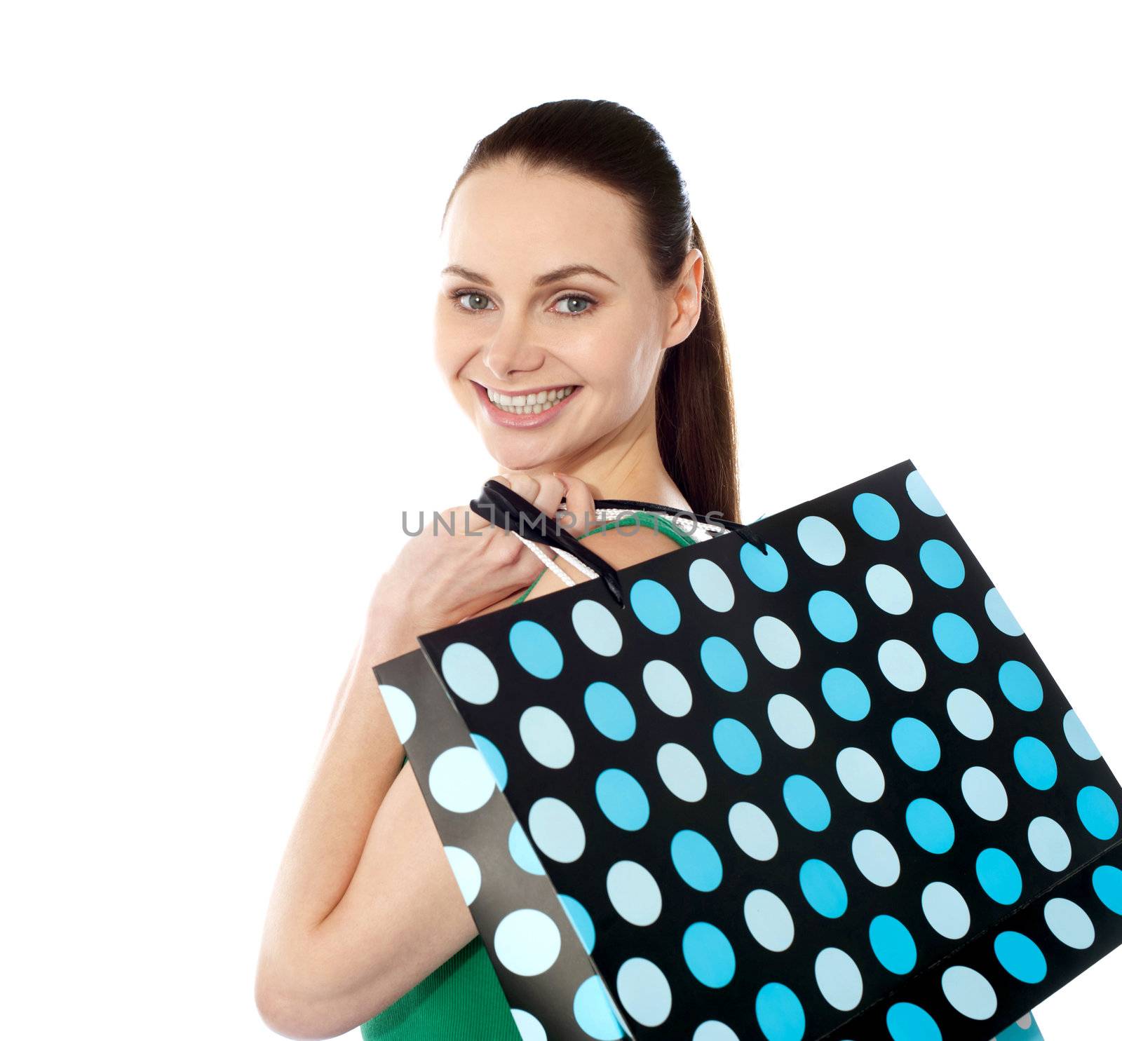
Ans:
[{"label": "smiling face of the dark-haired woman", "polygon": [[653,421],[662,350],[693,322],[655,288],[622,197],[572,174],[477,171],[441,257],[436,362],[500,466],[560,469]]}]

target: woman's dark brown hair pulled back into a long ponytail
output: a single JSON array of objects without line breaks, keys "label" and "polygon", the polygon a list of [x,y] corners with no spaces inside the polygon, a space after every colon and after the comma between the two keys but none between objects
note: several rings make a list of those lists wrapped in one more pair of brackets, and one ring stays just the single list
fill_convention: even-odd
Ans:
[{"label": "woman's dark brown hair pulled back into a long ponytail", "polygon": [[449,204],[469,174],[508,157],[528,169],[578,174],[629,200],[651,274],[661,288],[678,278],[690,249],[701,251],[705,278],[698,323],[686,340],[662,352],[655,389],[659,452],[693,510],[739,520],[733,383],[712,267],[681,173],[662,136],[613,101],[568,99],[535,105],[476,145]]}]

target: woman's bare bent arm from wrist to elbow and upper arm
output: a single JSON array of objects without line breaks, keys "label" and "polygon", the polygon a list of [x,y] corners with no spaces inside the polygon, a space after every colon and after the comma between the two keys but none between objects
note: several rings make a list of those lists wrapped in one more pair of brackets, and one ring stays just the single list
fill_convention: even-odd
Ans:
[{"label": "woman's bare bent arm from wrist to elbow and upper arm", "polygon": [[257,966],[258,1010],[285,1037],[346,1033],[476,934],[374,678],[415,646],[365,635],[335,697]]}]

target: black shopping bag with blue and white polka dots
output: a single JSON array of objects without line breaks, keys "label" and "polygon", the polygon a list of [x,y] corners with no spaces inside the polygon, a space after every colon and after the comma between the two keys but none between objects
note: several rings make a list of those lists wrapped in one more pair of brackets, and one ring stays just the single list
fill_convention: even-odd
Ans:
[{"label": "black shopping bag with blue and white polka dots", "polygon": [[1004,1041],[1122,942],[1119,783],[910,460],[597,573],[374,669],[524,1038]]}]

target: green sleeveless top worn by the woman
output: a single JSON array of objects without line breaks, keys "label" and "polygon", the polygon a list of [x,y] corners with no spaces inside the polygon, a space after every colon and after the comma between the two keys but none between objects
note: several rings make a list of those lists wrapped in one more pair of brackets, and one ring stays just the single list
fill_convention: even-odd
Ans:
[{"label": "green sleeveless top worn by the woman", "polygon": [[[679,545],[693,541],[680,527],[659,514],[636,510],[607,520],[585,535],[610,527],[642,524],[669,535]],[[515,600],[521,604],[541,581],[542,573]],[[405,757],[408,759],[408,756]],[[402,764],[405,765],[404,763]],[[511,1005],[499,985],[487,948],[472,937],[440,968],[403,994],[393,1005],[361,1026],[364,1041],[521,1041],[522,1033],[511,1015]]]}]

